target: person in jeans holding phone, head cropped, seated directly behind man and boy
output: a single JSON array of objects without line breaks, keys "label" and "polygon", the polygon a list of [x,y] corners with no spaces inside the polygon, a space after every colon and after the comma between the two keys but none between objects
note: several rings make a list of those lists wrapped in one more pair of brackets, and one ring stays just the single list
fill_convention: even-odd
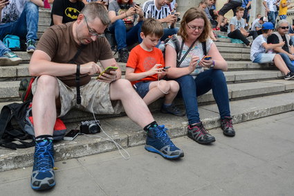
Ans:
[{"label": "person in jeans holding phone, head cropped, seated directly behind man and boy", "polygon": [[[109,30],[115,35],[118,44],[118,62],[127,62],[129,58],[127,46],[142,42],[140,32],[144,12],[140,5],[134,3],[133,0],[111,1],[108,10],[111,20]],[[138,24],[134,25],[137,18]]]}]

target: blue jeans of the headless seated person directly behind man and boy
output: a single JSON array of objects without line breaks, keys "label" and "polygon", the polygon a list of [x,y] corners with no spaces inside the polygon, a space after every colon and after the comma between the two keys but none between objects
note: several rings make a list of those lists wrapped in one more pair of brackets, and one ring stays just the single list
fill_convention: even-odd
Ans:
[{"label": "blue jeans of the headless seated person directly behind man and boy", "polygon": [[122,21],[122,19],[118,19],[114,22],[109,30],[110,33],[113,33],[116,37],[118,50],[121,48],[127,48],[128,45],[134,44],[136,42],[142,42],[142,38],[140,37],[142,24],[143,21],[139,21],[138,24],[127,31],[125,22]]}]

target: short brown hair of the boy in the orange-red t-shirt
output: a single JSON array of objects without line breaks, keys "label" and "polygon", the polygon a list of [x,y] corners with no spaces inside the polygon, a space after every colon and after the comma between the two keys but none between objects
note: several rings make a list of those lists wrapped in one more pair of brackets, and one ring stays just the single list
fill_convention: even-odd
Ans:
[{"label": "short brown hair of the boy in the orange-red t-shirt", "polygon": [[145,19],[141,27],[141,32],[145,36],[155,35],[156,37],[163,37],[163,25],[154,18]]}]

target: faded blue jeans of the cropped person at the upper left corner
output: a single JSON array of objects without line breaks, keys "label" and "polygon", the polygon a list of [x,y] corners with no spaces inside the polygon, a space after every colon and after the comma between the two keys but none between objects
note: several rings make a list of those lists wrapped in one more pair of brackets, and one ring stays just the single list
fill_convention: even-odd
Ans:
[{"label": "faded blue jeans of the cropped person at the upper left corner", "polygon": [[[37,40],[37,30],[39,21],[39,7],[32,2],[26,2],[24,10],[17,21],[8,22],[0,25],[0,39],[2,40],[7,34],[17,35],[22,39]],[[2,41],[0,41],[0,55],[10,52]]]}]

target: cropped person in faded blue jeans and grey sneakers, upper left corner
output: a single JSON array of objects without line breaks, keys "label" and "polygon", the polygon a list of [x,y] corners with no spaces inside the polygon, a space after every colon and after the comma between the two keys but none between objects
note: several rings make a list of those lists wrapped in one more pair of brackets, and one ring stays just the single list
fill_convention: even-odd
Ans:
[{"label": "cropped person in faded blue jeans and grey sneakers, upper left corner", "polygon": [[[35,51],[37,40],[39,7],[44,7],[42,0],[1,0],[0,1],[0,39],[6,35],[17,35],[26,39],[26,51]],[[11,49],[0,40],[0,65],[17,65],[21,62]]]}]

